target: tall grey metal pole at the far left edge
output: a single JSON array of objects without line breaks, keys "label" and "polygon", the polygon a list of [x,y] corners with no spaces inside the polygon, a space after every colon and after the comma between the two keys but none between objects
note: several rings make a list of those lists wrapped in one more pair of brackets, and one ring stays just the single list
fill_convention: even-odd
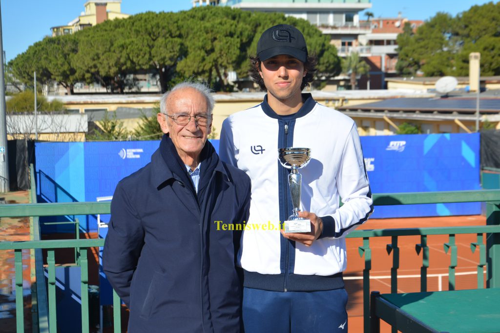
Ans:
[{"label": "tall grey metal pole at the far left edge", "polygon": [[[0,9],[0,54],[3,55]],[[3,57],[3,56],[2,56]],[[9,192],[8,155],[7,155],[7,116],[5,113],[5,81],[3,79],[3,60],[0,61],[0,192]]]}]

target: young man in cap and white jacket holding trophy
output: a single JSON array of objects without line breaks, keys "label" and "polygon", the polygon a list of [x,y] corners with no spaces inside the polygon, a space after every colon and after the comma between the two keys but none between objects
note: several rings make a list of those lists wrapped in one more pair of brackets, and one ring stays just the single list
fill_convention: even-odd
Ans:
[{"label": "young man in cap and white jacket holding trophy", "polygon": [[[346,332],[345,235],[373,211],[356,126],[301,93],[312,81],[316,58],[295,27],[264,31],[250,60],[252,78],[267,94],[225,119],[219,149],[222,160],[252,181],[238,253],[245,332]],[[310,162],[300,169],[299,213],[311,221],[310,233],[280,230],[292,212],[289,171],[277,159],[285,147],[311,149]]]}]

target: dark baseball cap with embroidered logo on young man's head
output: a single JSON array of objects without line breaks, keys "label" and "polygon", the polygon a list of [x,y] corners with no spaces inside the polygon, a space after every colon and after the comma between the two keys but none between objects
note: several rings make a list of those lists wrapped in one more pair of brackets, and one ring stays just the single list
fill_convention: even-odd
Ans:
[{"label": "dark baseball cap with embroidered logo on young man's head", "polygon": [[291,55],[298,60],[307,60],[305,39],[296,27],[288,24],[274,25],[265,30],[257,42],[257,56],[260,61],[279,54]]}]

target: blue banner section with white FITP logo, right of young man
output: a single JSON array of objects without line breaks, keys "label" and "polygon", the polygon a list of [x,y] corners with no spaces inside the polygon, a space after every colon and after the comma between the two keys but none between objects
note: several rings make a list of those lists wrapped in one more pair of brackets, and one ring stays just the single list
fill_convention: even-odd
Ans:
[{"label": "blue banner section with white FITP logo, right of young man", "polygon": [[[480,189],[479,133],[361,137],[372,193]],[[375,207],[371,218],[480,214],[480,203]]]}]

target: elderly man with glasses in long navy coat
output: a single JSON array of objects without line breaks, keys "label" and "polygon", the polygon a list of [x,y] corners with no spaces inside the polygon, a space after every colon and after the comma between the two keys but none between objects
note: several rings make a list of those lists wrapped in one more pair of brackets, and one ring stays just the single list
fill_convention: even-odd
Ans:
[{"label": "elderly man with glasses in long navy coat", "polygon": [[247,218],[250,181],[206,140],[213,104],[199,83],[165,93],[158,150],[116,186],[103,267],[130,309],[128,332],[240,330],[240,235],[229,230]]}]

